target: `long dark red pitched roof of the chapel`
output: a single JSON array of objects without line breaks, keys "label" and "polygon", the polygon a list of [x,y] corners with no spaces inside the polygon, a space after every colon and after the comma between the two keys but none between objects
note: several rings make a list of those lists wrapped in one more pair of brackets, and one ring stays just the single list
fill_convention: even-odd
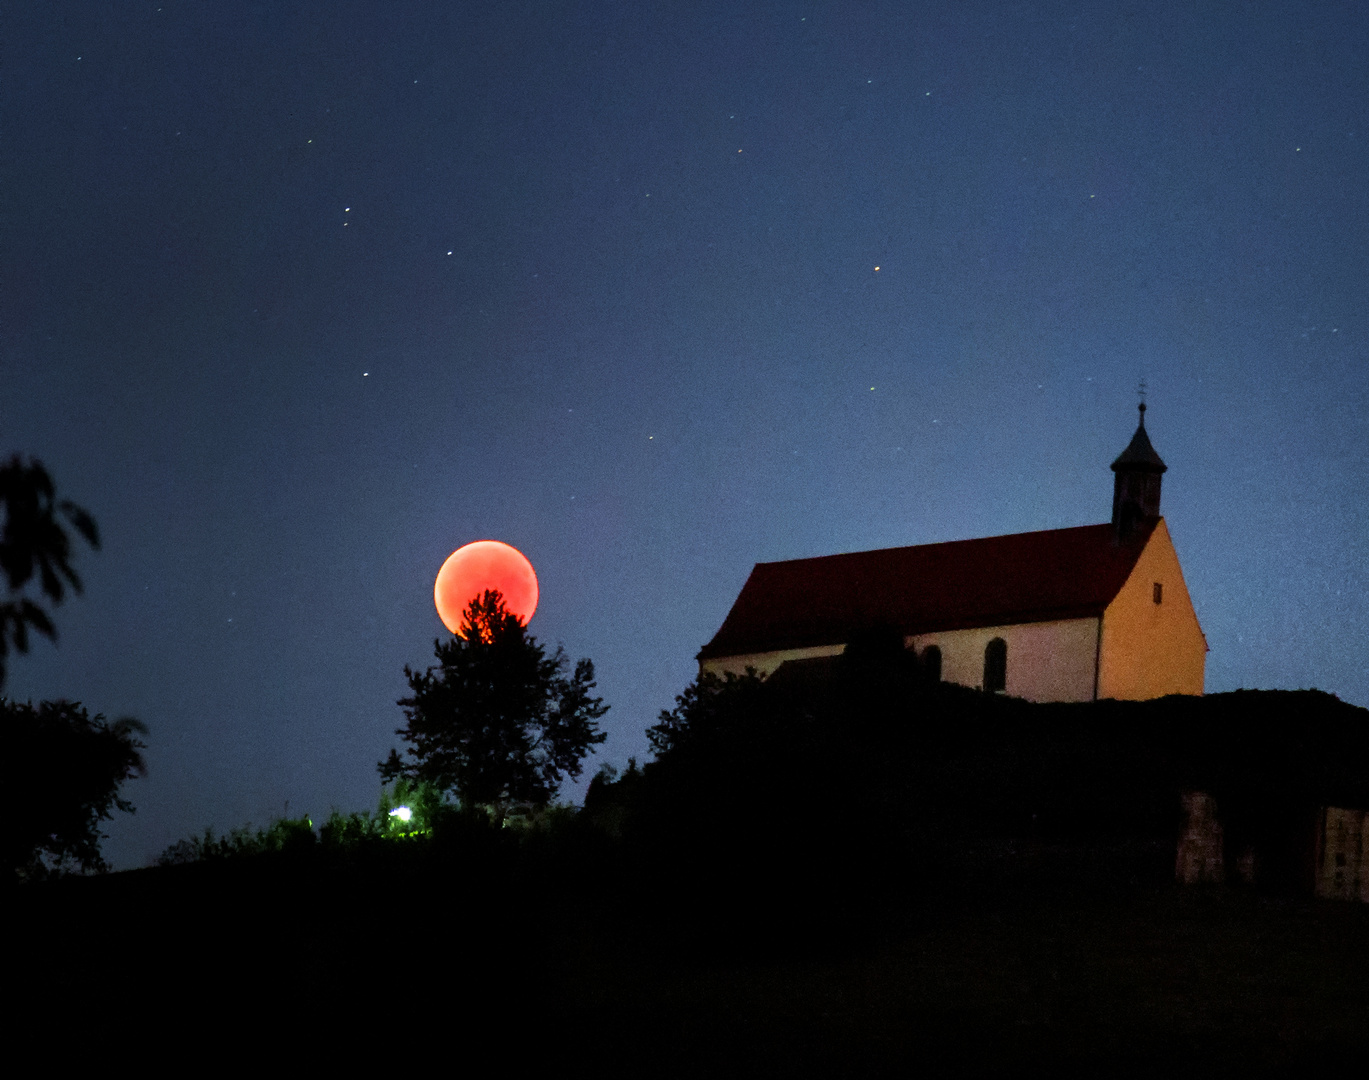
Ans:
[{"label": "long dark red pitched roof of the chapel", "polygon": [[757,563],[698,658],[843,645],[872,626],[928,634],[1102,615],[1153,528],[1125,543],[1102,524]]}]

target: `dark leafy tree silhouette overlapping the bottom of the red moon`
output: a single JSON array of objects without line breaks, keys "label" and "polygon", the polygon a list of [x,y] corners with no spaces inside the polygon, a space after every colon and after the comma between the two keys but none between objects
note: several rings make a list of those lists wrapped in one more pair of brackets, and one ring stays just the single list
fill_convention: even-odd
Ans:
[{"label": "dark leafy tree silhouette overlapping the bottom of the red moon", "polygon": [[404,668],[412,694],[398,702],[408,723],[396,734],[409,760],[390,750],[386,782],[427,782],[464,808],[545,806],[608,738],[596,723],[608,706],[590,693],[594,664],[570,672],[564,649],[548,656],[497,590],[472,600],[457,634],[433,647],[437,665]]}]

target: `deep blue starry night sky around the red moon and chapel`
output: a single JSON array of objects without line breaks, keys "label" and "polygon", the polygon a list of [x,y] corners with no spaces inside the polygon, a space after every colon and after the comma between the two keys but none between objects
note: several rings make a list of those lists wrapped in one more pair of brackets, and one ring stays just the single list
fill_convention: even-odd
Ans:
[{"label": "deep blue starry night sky around the red moon and chapel", "polygon": [[1144,379],[1207,690],[1369,705],[1366,108],[1357,3],[12,5],[0,450],[104,546],[5,693],[148,724],[118,866],[371,808],[494,538],[587,779],[757,561],[1108,520]]}]

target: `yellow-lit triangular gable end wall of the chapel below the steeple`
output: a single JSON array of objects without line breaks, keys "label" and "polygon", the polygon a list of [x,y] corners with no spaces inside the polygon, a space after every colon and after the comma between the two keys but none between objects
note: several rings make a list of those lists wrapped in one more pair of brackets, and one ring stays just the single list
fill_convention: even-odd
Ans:
[{"label": "yellow-lit triangular gable end wall of the chapel below the steeple", "polygon": [[[1162,586],[1154,602],[1154,583]],[[1103,612],[1098,697],[1144,701],[1201,694],[1207,642],[1161,519],[1131,576]]]}]

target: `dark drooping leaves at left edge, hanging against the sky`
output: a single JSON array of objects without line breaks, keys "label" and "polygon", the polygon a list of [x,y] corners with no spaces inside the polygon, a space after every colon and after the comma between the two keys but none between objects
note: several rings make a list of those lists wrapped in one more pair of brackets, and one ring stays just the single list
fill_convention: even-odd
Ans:
[{"label": "dark drooping leaves at left edge, hanging against the sky", "polygon": [[66,597],[70,586],[81,591],[81,578],[71,567],[71,539],[60,517],[92,548],[100,546],[94,519],[71,500],[56,497],[52,478],[40,461],[25,463],[15,454],[0,465],[0,502],[4,528],[0,531],[0,571],[10,598],[0,601],[0,687],[4,686],[5,658],[12,646],[29,652],[29,630],[56,641],[52,616],[31,597],[21,595],[37,575],[40,595],[52,605]]}]

